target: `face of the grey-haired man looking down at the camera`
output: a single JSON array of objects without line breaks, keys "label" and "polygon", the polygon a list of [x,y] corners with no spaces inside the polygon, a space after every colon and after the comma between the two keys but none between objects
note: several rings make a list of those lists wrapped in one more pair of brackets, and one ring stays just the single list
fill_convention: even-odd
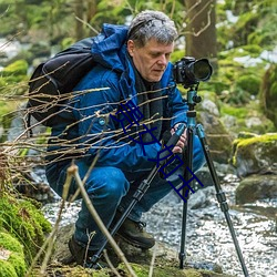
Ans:
[{"label": "face of the grey-haired man looking down at the camera", "polygon": [[127,51],[142,78],[148,82],[158,82],[170,61],[174,43],[162,44],[151,39],[143,48],[137,48],[134,41],[127,41]]}]

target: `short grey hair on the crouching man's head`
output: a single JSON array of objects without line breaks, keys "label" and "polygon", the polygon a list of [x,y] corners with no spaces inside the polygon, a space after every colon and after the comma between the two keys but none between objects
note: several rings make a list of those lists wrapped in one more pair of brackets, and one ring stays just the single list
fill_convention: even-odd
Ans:
[{"label": "short grey hair on the crouching man's head", "polygon": [[129,40],[142,48],[150,39],[170,44],[177,38],[174,22],[161,11],[142,11],[131,22]]}]

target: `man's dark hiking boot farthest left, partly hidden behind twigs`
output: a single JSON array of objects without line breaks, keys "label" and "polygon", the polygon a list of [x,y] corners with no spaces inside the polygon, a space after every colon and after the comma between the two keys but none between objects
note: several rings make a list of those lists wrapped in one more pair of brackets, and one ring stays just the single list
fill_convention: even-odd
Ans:
[{"label": "man's dark hiking boot farthest left, partly hidden behind twigs", "polygon": [[69,249],[72,255],[72,261],[86,268],[101,269],[107,267],[107,264],[102,259],[99,259],[95,265],[92,263],[92,257],[95,252],[86,249],[83,245],[75,240],[74,236],[69,240]]}]

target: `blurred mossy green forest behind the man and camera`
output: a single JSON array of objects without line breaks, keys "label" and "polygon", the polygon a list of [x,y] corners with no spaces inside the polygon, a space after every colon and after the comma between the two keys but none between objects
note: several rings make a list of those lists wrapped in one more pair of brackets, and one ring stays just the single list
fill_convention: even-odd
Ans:
[{"label": "blurred mossy green forest behind the man and camera", "polygon": [[[183,57],[209,59],[214,73],[199,89],[216,98],[222,115],[236,117],[235,133],[237,127],[255,133],[276,131],[274,0],[0,0],[0,37],[4,39],[0,44],[1,141],[7,138],[12,119],[3,115],[25,100],[30,73],[41,61],[95,35],[103,22],[127,24],[145,9],[162,10],[175,21],[179,37],[172,62]],[[6,50],[16,43],[21,48],[9,57]],[[258,116],[260,124],[249,130],[244,121],[252,116]]]}]

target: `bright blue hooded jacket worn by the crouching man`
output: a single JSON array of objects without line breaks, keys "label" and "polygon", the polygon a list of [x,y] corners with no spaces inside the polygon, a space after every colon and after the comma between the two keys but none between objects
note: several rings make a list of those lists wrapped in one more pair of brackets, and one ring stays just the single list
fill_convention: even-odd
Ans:
[{"label": "bright blue hooded jacket worn by the crouching man", "polygon": [[[92,45],[98,65],[74,89],[75,96],[69,103],[72,110],[61,114],[62,119],[52,127],[52,136],[70,142],[69,152],[76,152],[88,163],[92,163],[99,154],[98,166],[115,166],[126,172],[137,172],[153,167],[154,163],[148,160],[156,158],[161,144],[157,142],[160,137],[147,145],[131,141],[119,121],[111,116],[115,116],[123,100],[132,99],[137,105],[134,70],[126,59],[126,27],[103,25]],[[167,65],[161,80],[162,94],[166,96],[163,100],[163,117],[171,119],[167,129],[186,122],[187,111],[173,81],[172,66],[171,63]],[[95,90],[90,91],[92,89]],[[72,116],[76,123],[66,123]],[[50,146],[49,150],[61,151],[66,147]]]}]

